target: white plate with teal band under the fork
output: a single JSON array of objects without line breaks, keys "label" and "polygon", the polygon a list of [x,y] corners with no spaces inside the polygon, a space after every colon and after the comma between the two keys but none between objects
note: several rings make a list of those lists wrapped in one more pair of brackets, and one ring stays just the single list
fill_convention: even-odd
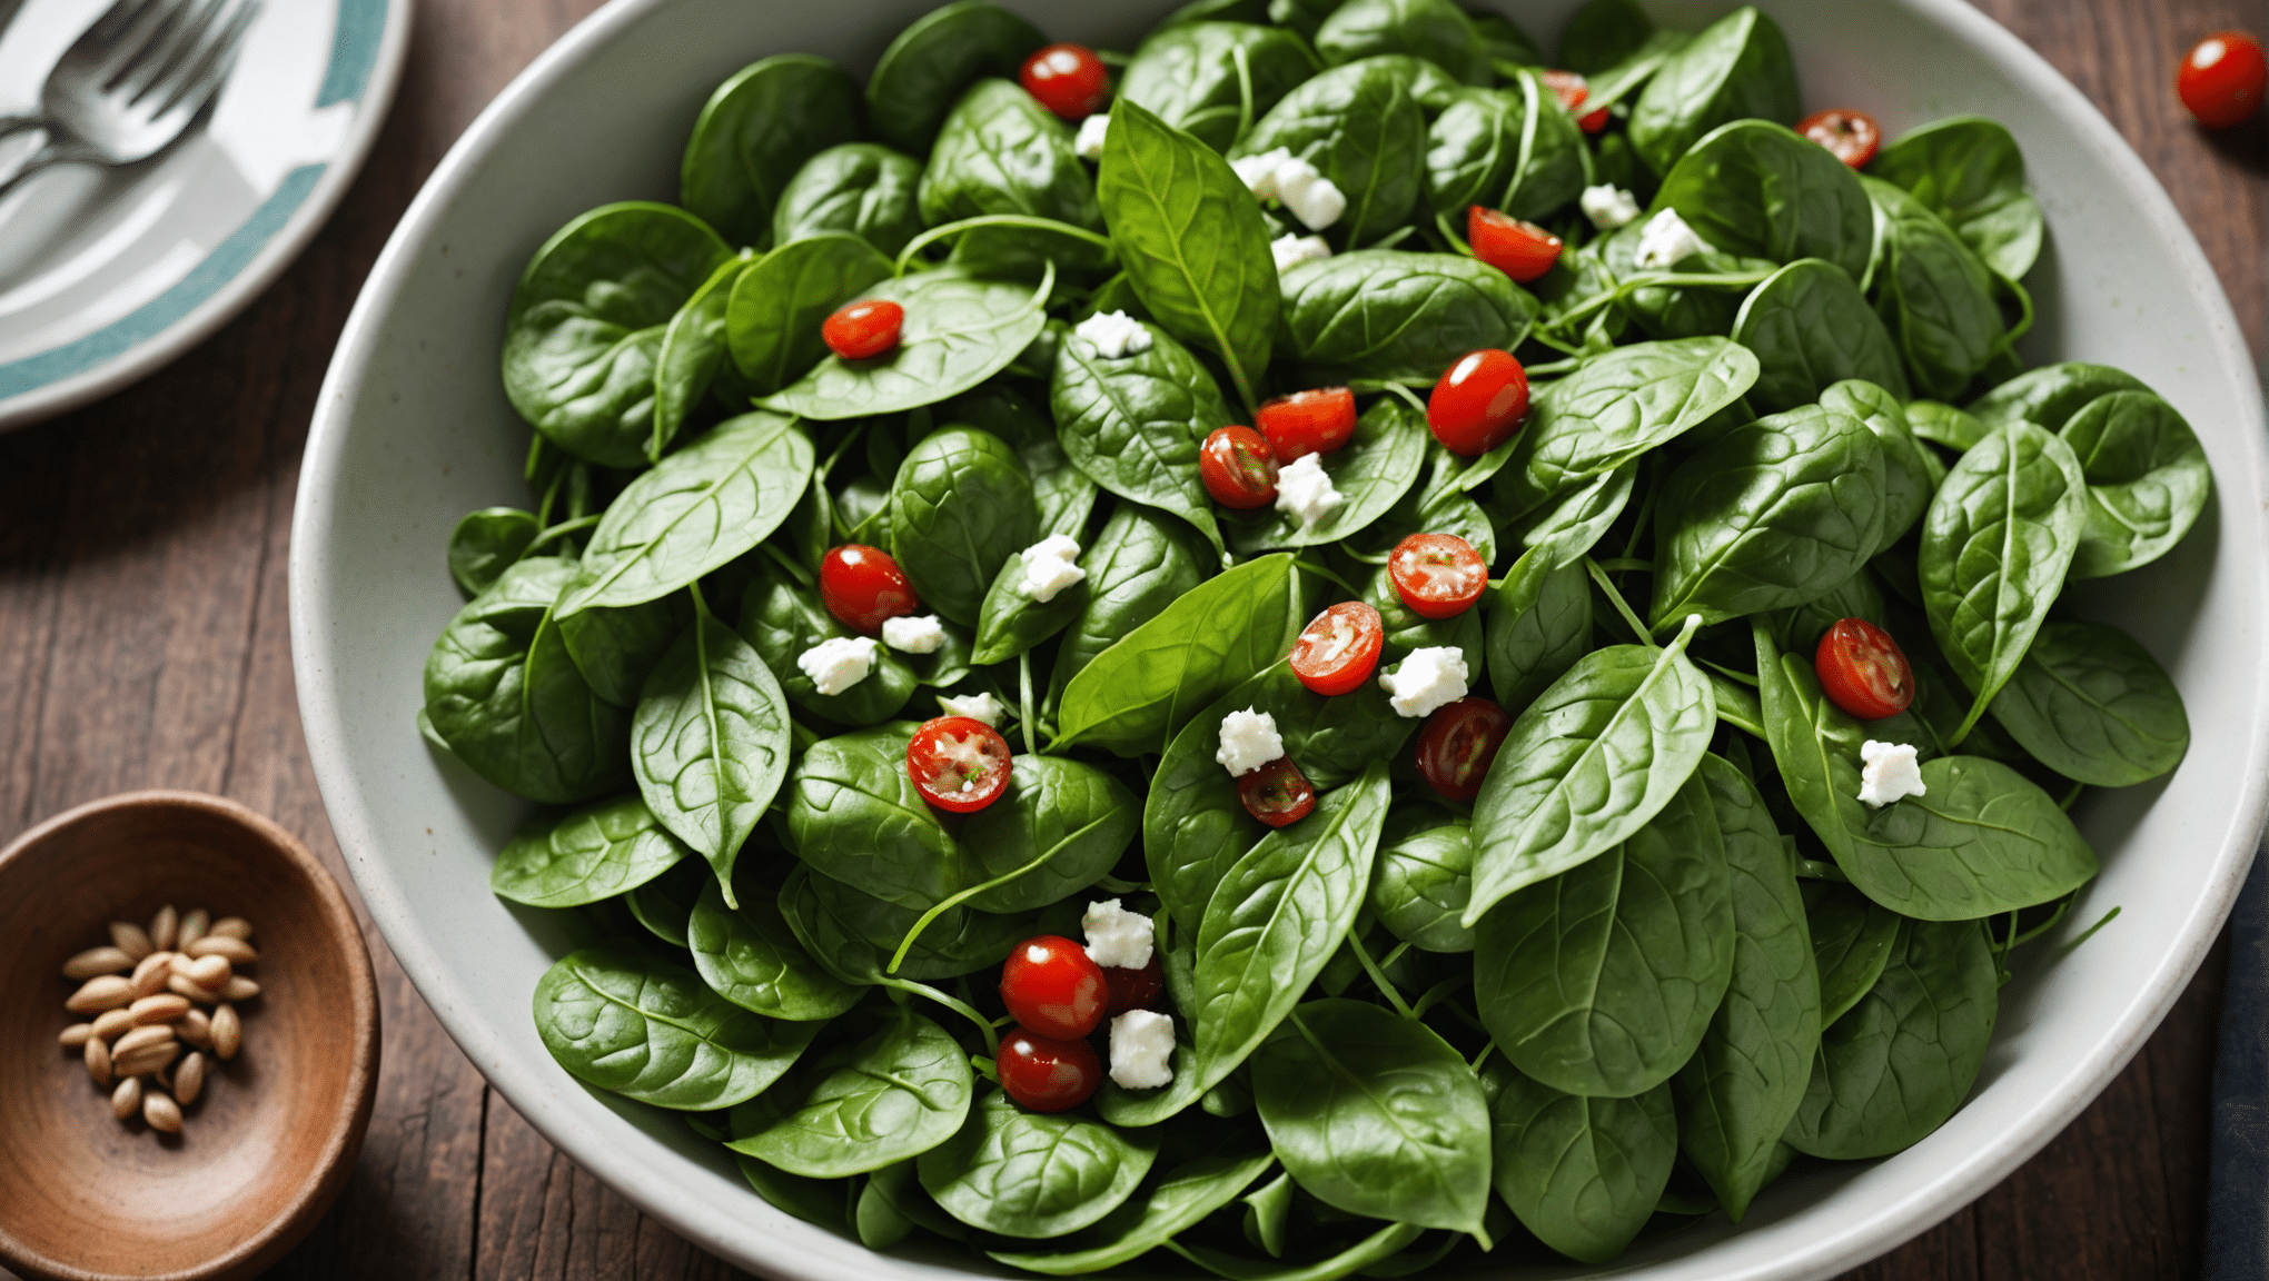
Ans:
[{"label": "white plate with teal band under the fork", "polygon": [[[0,0],[0,116],[39,111],[111,0]],[[386,120],[411,0],[265,0],[229,84],[138,166],[0,197],[0,431],[77,408],[227,324],[306,247]],[[0,138],[0,172],[36,134]]]}]

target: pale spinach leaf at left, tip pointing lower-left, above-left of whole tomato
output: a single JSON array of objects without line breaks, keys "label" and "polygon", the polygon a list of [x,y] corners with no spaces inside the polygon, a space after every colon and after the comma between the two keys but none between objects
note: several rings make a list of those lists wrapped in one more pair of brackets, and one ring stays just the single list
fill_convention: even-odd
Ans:
[{"label": "pale spinach leaf at left, tip pointing lower-left, above-left of whole tomato", "polygon": [[790,419],[744,413],[663,458],[606,508],[558,614],[642,605],[724,569],[781,528],[812,474]]}]

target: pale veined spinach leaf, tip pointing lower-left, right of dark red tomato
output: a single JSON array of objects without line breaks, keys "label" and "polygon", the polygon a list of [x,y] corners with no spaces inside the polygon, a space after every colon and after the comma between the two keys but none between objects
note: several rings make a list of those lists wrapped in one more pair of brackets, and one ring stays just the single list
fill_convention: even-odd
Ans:
[{"label": "pale veined spinach leaf, tip pointing lower-left, right of dark red tomato", "polygon": [[1577,660],[1520,712],[1482,780],[1466,925],[1638,832],[1677,796],[1715,728],[1718,701],[1686,637]]}]

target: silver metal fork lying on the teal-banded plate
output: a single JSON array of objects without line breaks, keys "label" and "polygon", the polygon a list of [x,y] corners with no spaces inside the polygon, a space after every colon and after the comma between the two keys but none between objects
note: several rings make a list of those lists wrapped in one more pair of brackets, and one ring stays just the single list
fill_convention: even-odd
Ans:
[{"label": "silver metal fork lying on the teal-banded plate", "polygon": [[[64,50],[41,88],[45,134],[9,177],[59,163],[132,166],[163,152],[220,93],[261,0],[118,0]],[[0,125],[5,132],[5,125]]]}]

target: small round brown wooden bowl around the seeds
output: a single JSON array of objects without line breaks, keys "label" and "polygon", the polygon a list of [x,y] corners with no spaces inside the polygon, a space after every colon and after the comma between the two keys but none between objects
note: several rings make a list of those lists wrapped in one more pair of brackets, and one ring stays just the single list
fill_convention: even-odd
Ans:
[{"label": "small round brown wooden bowl around the seeds", "polygon": [[[243,1050],[182,1134],[118,1122],[57,1034],[64,959],[166,902],[252,921]],[[234,800],[132,791],[0,850],[0,1263],[54,1281],[254,1276],[338,1197],[370,1127],[379,995],[338,882]]]}]

